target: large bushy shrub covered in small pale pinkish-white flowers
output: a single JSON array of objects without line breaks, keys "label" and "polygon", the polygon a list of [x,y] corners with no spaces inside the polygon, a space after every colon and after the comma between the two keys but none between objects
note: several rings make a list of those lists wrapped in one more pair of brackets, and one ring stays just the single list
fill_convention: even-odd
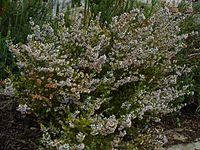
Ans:
[{"label": "large bushy shrub covered in small pale pinkish-white flowers", "polygon": [[[26,44],[10,44],[21,68],[14,82],[21,105],[39,118],[46,148],[115,149],[156,144],[150,121],[176,111],[171,104],[189,94],[177,84],[190,71],[176,64],[187,35],[179,35],[179,13],[165,7],[150,19],[133,9],[101,27],[98,18],[58,30],[31,21]],[[145,146],[144,146],[145,147]]]}]

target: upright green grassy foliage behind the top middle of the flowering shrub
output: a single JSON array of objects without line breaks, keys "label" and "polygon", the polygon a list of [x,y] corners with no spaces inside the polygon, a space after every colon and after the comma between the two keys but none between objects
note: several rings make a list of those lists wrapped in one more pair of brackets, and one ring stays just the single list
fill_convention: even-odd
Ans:
[{"label": "upright green grassy foliage behind the top middle of the flowering shrub", "polygon": [[[74,2],[74,4],[77,4]],[[78,1],[78,6],[81,6],[81,0]],[[100,15],[101,24],[110,23],[112,17],[120,15],[124,12],[129,12],[133,7],[143,9],[146,17],[150,17],[157,8],[158,1],[152,0],[146,4],[140,0],[85,0],[81,6],[84,15],[84,24],[90,22]],[[72,5],[73,7],[74,5]]]}]

